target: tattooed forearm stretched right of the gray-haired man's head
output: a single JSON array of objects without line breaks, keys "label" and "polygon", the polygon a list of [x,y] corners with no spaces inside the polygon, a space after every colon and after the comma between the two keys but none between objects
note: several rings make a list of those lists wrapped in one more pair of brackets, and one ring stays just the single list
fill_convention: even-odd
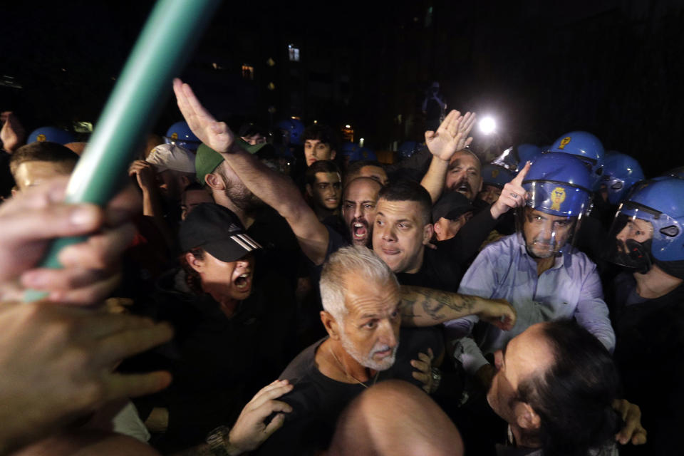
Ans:
[{"label": "tattooed forearm stretched right of the gray-haired man's head", "polygon": [[477,296],[467,296],[420,286],[402,286],[402,322],[430,326],[475,313]]}]

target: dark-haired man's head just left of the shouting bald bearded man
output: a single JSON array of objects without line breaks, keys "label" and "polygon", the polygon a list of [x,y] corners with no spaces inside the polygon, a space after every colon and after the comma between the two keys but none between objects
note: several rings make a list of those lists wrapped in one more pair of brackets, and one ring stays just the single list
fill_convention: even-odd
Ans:
[{"label": "dark-haired man's head just left of the shouting bald bearded man", "polygon": [[330,160],[318,160],[306,168],[306,195],[321,222],[338,213],[342,196],[340,169]]}]

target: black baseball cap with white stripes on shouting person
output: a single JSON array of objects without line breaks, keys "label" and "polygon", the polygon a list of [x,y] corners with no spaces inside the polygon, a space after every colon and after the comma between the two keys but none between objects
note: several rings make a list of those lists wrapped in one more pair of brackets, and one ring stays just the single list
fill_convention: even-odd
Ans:
[{"label": "black baseball cap with white stripes on shouting person", "polygon": [[261,246],[245,234],[242,222],[230,209],[211,202],[199,204],[180,224],[183,252],[201,247],[227,263],[241,259]]}]

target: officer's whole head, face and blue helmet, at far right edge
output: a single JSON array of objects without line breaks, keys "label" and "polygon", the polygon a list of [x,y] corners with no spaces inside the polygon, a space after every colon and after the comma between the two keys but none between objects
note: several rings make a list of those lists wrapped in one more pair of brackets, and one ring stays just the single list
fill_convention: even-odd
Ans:
[{"label": "officer's whole head, face and blue helmet, at far right edge", "polygon": [[646,274],[656,264],[684,279],[684,180],[659,177],[634,185],[611,227],[608,258]]}]

